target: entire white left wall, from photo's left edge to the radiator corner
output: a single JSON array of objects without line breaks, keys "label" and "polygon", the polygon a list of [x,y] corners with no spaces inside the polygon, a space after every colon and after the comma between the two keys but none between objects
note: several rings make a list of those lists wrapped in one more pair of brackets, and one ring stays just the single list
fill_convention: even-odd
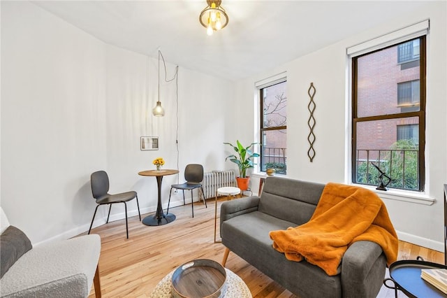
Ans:
[{"label": "entire white left wall, from photo's left edge to the radiator corner", "polygon": [[[162,84],[166,116],[151,113],[156,59],[98,41],[33,3],[2,1],[1,62],[1,206],[11,225],[34,244],[87,231],[98,169],[108,171],[110,192],[136,190],[142,212],[155,211],[156,180],[138,171],[158,156],[177,168],[175,84]],[[179,171],[192,162],[222,169],[232,83],[181,67],[178,83]],[[140,151],[140,136],[159,136],[160,150]],[[163,180],[163,203],[170,183],[177,176]],[[128,210],[137,214],[135,201]],[[99,208],[94,225],[106,215]],[[124,206],[112,208],[118,218]]]}]

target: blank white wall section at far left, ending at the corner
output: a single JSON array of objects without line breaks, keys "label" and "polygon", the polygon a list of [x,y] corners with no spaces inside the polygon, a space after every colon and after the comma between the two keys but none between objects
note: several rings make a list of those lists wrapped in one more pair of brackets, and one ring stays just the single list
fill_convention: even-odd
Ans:
[{"label": "blank white wall section at far left, ending at the corner", "polygon": [[1,206],[33,242],[91,218],[89,173],[106,162],[104,54],[34,4],[1,3]]}]

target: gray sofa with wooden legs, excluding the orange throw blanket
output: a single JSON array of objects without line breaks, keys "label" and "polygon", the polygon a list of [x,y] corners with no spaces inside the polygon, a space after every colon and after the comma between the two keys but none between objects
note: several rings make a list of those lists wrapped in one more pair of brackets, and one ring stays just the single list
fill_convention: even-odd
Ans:
[{"label": "gray sofa with wooden legs, excluding the orange throw blanket", "polygon": [[223,202],[220,228],[227,248],[223,266],[231,251],[299,297],[376,297],[386,269],[386,257],[376,243],[353,243],[336,276],[328,276],[320,267],[305,261],[289,261],[272,248],[269,232],[309,221],[324,187],[268,177],[261,197]]}]

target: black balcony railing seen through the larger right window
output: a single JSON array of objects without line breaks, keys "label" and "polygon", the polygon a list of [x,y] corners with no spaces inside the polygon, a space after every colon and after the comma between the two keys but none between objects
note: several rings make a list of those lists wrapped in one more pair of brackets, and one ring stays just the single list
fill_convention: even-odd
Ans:
[{"label": "black balcony railing seen through the larger right window", "polygon": [[365,185],[380,184],[380,173],[372,162],[391,178],[388,187],[419,190],[418,150],[357,150],[354,182]]}]

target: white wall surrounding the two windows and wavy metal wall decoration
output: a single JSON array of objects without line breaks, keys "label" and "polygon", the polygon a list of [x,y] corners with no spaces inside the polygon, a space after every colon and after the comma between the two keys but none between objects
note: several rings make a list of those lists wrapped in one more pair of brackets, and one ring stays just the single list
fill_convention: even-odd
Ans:
[{"label": "white wall surrounding the two windows and wavy metal wall decoration", "polygon": [[[427,41],[427,146],[426,194],[437,201],[432,206],[384,199],[390,218],[400,239],[444,251],[444,206],[442,185],[447,183],[447,122],[446,122],[446,2],[427,2],[413,15],[405,15],[358,36],[330,45],[312,54],[300,57],[268,73],[244,80],[237,86],[239,101],[247,107],[253,99],[254,82],[281,71],[287,71],[288,127],[287,171],[291,178],[320,183],[329,181],[348,183],[345,166],[349,164],[346,151],[346,125],[349,104],[346,73],[349,60],[346,48],[387,34],[415,22],[430,18],[430,36]],[[307,90],[314,83],[316,110],[314,117],[316,142],[314,162],[309,162],[307,120],[309,95]],[[253,132],[255,134],[256,132]],[[254,188],[256,189],[256,188]]]}]

